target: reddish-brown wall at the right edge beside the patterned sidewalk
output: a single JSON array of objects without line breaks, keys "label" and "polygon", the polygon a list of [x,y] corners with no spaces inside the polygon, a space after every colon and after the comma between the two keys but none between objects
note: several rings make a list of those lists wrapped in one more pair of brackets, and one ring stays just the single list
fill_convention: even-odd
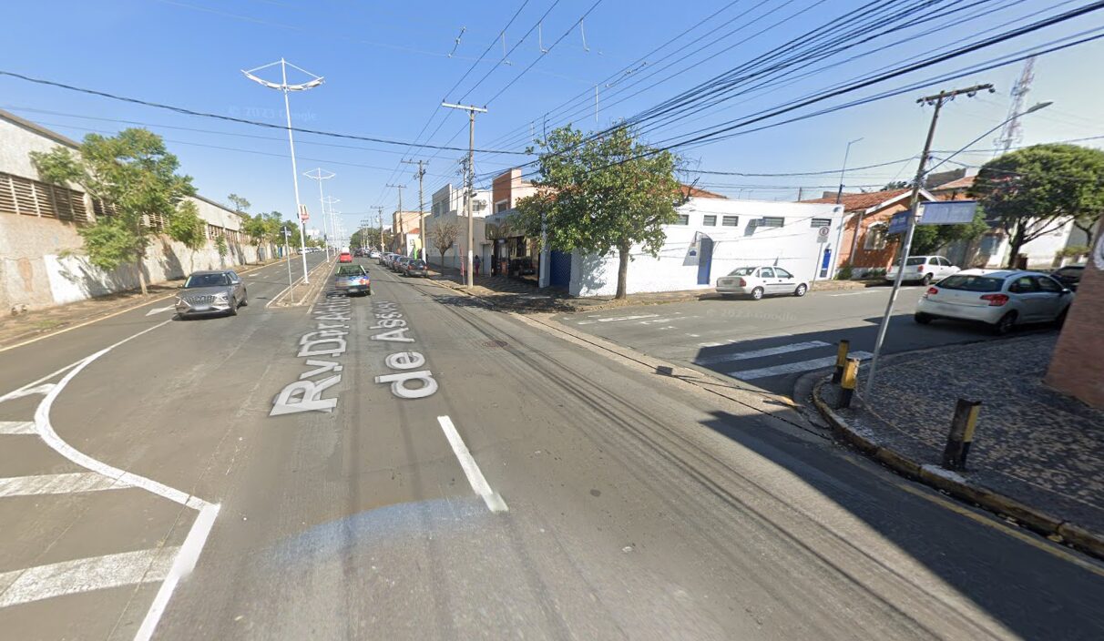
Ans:
[{"label": "reddish-brown wall at the right edge beside the patterned sidewalk", "polygon": [[1104,265],[1089,260],[1058,339],[1045,382],[1104,408]]}]

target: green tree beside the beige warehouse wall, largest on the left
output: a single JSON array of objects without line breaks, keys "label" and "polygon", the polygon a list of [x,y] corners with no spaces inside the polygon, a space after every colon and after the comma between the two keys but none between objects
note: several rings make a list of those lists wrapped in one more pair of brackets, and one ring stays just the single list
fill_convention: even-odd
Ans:
[{"label": "green tree beside the beige warehouse wall, largest on the left", "polygon": [[[110,214],[77,229],[85,252],[102,269],[132,264],[142,293],[147,291],[142,260],[150,242],[160,234],[148,220],[160,216],[170,237],[185,244],[195,242],[195,224],[189,214],[194,214],[194,205],[185,205],[185,199],[195,193],[192,179],[177,173],[177,157],[149,130],[125,129],[115,137],[89,133],[76,153],[55,147],[47,152],[32,151],[31,160],[42,180],[77,183],[104,203]],[[174,224],[177,216],[183,216],[179,224]]]}]

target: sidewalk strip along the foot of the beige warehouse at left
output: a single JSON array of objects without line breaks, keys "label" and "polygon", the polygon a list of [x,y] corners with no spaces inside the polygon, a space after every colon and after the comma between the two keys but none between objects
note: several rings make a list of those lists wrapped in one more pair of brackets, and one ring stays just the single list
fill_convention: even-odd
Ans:
[{"label": "sidewalk strip along the foot of the beige warehouse at left", "polygon": [[[272,265],[273,263],[274,260],[268,260],[263,264],[227,267],[227,269],[236,269],[238,273],[247,274],[253,269]],[[177,292],[177,285],[182,281],[183,279],[181,278],[179,280],[148,285],[146,287],[148,291],[146,296],[142,296],[139,290],[135,289],[66,305],[35,309],[18,316],[6,314],[0,318],[0,349],[47,335],[81,323],[106,318],[148,302],[168,299]]]}]

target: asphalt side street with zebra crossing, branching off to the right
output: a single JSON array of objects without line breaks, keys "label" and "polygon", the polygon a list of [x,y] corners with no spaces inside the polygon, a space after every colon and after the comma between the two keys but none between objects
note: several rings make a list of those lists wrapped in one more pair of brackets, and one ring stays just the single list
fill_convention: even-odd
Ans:
[{"label": "asphalt side street with zebra crossing, branching off to the right", "polygon": [[[884,354],[995,339],[980,325],[915,323],[912,313],[923,292],[920,286],[901,289]],[[788,396],[800,376],[835,364],[840,340],[850,341],[853,356],[869,360],[889,296],[889,287],[872,287],[758,301],[715,298],[555,320],[645,354],[731,376],[749,389]],[[1047,331],[1025,331],[1040,329]]]}]

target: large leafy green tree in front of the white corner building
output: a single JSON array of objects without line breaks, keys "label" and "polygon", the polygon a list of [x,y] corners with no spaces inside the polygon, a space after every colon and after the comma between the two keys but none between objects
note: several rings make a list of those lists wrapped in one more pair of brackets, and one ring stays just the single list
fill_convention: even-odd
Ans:
[{"label": "large leafy green tree in front of the white corner building", "polygon": [[639,142],[626,126],[594,137],[569,125],[537,145],[538,190],[518,203],[513,223],[533,238],[543,229],[554,249],[617,250],[617,298],[625,298],[633,246],[657,256],[664,225],[678,221],[679,159]]}]

